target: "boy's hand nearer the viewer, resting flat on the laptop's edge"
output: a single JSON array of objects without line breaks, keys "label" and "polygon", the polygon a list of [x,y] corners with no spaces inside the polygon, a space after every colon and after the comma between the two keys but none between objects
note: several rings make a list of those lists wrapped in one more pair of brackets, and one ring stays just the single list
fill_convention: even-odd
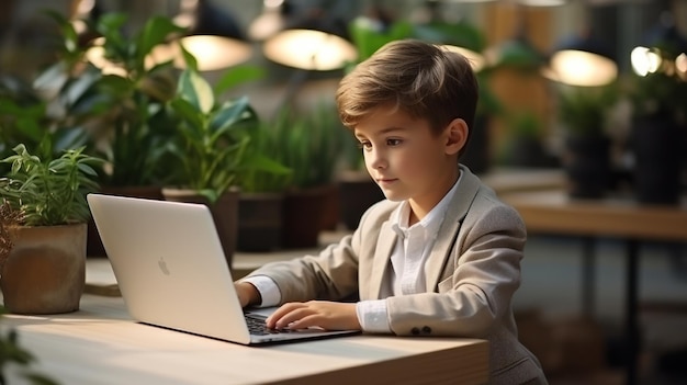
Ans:
[{"label": "boy's hand nearer the viewer, resting flat on the laptop's edge", "polygon": [[282,305],[267,319],[268,328],[360,330],[356,304],[309,301]]}]

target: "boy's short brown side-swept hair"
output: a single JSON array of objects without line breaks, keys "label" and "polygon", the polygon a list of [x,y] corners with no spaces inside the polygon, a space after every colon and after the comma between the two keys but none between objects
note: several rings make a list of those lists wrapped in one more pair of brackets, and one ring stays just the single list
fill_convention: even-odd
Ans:
[{"label": "boy's short brown side-swept hair", "polygon": [[425,118],[440,133],[454,118],[472,132],[478,86],[462,55],[417,39],[387,43],[341,79],[339,117],[354,128],[379,106],[391,105]]}]

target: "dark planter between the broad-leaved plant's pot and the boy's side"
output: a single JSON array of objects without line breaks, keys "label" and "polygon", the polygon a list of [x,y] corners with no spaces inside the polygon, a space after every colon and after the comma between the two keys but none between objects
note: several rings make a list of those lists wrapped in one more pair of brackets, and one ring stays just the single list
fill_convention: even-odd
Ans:
[{"label": "dark planter between the broad-leaved plant's pot and the boy's side", "polygon": [[281,193],[239,194],[237,250],[264,252],[281,248],[283,201]]}]

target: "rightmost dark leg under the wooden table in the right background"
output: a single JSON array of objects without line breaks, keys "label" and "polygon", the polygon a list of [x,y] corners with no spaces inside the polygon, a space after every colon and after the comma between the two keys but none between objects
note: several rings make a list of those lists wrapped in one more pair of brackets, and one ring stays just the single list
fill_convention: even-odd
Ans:
[{"label": "rightmost dark leg under the wooden table in the right background", "polygon": [[626,356],[626,383],[634,385],[638,382],[638,365],[640,354],[640,330],[638,322],[638,268],[639,268],[639,241],[629,239],[627,242],[627,297],[626,297],[626,343],[628,344]]}]

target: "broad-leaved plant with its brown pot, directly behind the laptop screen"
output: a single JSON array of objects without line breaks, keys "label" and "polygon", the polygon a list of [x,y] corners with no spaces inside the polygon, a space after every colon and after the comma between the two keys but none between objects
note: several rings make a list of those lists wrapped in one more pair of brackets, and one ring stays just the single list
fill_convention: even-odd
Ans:
[{"label": "broad-leaved plant with its brown pot, directly behind the laptop screen", "polygon": [[218,95],[238,81],[261,72],[229,69],[213,89],[198,71],[195,58],[181,47],[187,69],[179,77],[169,109],[177,116],[176,135],[166,150],[171,179],[162,189],[167,200],[211,207],[227,262],[236,249],[239,180],[255,170],[281,171],[281,165],[250,149],[250,131],[259,118],[247,97],[221,101]]}]

